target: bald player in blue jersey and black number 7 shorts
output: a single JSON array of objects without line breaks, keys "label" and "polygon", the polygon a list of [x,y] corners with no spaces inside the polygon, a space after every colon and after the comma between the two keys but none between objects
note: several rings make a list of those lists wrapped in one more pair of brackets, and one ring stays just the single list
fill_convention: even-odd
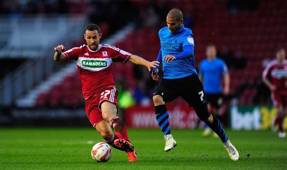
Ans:
[{"label": "bald player in blue jersey and black number 7 shorts", "polygon": [[[239,154],[227,138],[221,123],[208,111],[203,86],[195,70],[194,37],[192,31],[182,24],[182,12],[179,9],[170,10],[166,23],[167,27],[159,31],[161,50],[157,59],[163,65],[163,79],[153,94],[156,119],[166,141],[164,151],[168,152],[177,145],[170,132],[165,102],[181,97],[195,109],[199,119],[206,122],[221,138],[230,158],[238,160]],[[158,71],[158,68],[153,69],[153,80],[159,80]]]}]

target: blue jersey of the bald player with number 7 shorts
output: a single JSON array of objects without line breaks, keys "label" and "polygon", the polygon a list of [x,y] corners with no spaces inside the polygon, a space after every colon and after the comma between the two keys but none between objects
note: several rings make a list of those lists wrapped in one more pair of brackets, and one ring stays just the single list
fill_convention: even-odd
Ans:
[{"label": "blue jersey of the bald player with number 7 shorts", "polygon": [[183,46],[193,45],[194,38],[192,31],[184,28],[183,24],[176,33],[170,33],[168,27],[164,27],[159,31],[161,40],[161,57],[162,71],[164,79],[178,79],[189,76],[193,73],[197,74],[195,69],[194,53],[186,59],[178,59],[166,63],[163,60],[165,55],[177,55],[183,51]]}]

